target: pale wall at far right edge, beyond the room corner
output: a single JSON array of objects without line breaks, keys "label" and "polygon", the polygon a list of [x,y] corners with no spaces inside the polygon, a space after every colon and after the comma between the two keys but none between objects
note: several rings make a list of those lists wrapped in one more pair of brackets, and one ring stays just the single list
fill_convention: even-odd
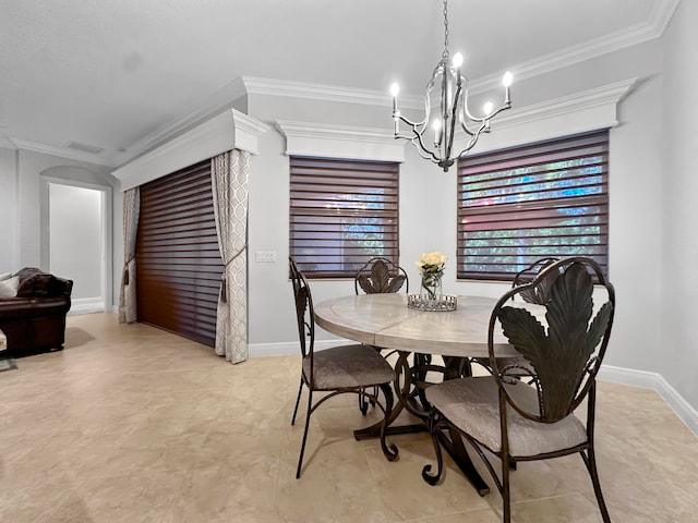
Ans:
[{"label": "pale wall at far right edge, beyond the room corner", "polygon": [[658,369],[698,410],[698,85],[696,66],[698,2],[679,3],[664,37],[662,235],[655,245],[661,263],[648,267],[648,278],[661,281],[661,343],[652,351]]}]

